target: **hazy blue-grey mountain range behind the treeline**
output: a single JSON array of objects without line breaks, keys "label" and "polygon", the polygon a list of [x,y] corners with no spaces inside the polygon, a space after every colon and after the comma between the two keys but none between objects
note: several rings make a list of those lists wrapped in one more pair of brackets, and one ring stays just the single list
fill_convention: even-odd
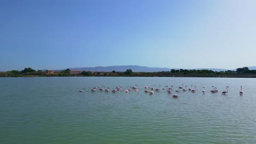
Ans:
[{"label": "hazy blue-grey mountain range behind the treeline", "polygon": [[[255,67],[256,68],[256,67]],[[115,65],[115,66],[109,66],[109,67],[87,67],[87,68],[69,68],[71,70],[85,70],[85,71],[126,71],[126,69],[131,69],[133,72],[158,72],[158,71],[170,71],[171,68],[150,68],[150,67],[142,67],[139,65]],[[178,69],[178,68],[174,68]],[[214,69],[214,68],[197,68],[196,70],[213,70],[213,71],[226,71],[228,69]],[[66,70],[66,69],[64,69]],[[190,69],[188,69],[190,70]]]}]

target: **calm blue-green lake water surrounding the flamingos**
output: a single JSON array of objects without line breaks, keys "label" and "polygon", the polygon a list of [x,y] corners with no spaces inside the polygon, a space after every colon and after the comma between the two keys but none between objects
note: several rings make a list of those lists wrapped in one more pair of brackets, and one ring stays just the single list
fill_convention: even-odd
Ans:
[{"label": "calm blue-green lake water surrounding the flamingos", "polygon": [[[173,98],[181,85],[196,92]],[[1,77],[0,143],[255,143],[255,94],[252,78]]]}]

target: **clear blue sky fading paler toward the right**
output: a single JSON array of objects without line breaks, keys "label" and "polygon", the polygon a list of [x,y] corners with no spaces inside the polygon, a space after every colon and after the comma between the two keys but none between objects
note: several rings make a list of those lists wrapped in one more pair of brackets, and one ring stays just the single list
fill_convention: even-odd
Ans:
[{"label": "clear blue sky fading paler toward the right", "polygon": [[254,0],[1,0],[0,71],[256,66]]}]

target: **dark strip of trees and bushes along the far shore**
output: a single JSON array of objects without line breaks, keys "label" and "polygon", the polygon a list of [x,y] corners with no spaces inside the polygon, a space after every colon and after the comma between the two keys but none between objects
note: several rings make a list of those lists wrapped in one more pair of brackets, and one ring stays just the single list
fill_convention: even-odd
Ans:
[{"label": "dark strip of trees and bushes along the far shore", "polygon": [[0,77],[40,77],[40,76],[158,76],[158,77],[256,77],[256,70],[249,70],[248,67],[237,68],[236,70],[212,71],[212,70],[188,70],[171,69],[170,71],[159,72],[133,72],[126,71],[81,71],[79,74],[70,73],[70,69],[47,73],[43,70],[25,68],[24,70],[11,70],[0,72]]}]

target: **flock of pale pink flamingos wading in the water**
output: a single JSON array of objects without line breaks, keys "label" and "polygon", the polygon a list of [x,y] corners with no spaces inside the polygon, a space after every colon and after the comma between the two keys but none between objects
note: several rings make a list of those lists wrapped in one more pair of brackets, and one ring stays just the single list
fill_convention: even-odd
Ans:
[{"label": "flock of pale pink flamingos wading in the water", "polygon": [[[165,88],[161,88],[161,85],[159,85],[158,86],[158,88],[155,88],[155,86],[156,85],[154,85],[153,87],[148,87],[148,86],[146,86],[146,87],[144,87],[145,88],[145,90],[144,90],[144,92],[145,93],[149,93],[149,94],[154,94],[154,91],[155,92],[159,92],[159,91],[161,91],[161,90],[166,90],[168,93],[172,93],[172,91],[173,91],[173,86],[171,85],[170,87],[168,87],[168,86],[165,86]],[[191,87],[192,87],[193,85],[191,85]],[[188,91],[191,91],[191,92],[196,92],[196,86],[194,86],[194,88],[188,88]],[[185,91],[187,91],[187,86],[185,86],[184,87],[184,85],[182,85],[182,86],[179,86],[178,87],[181,91],[183,91],[183,92],[185,92]],[[228,86],[226,86],[226,91],[224,91],[224,92],[222,92],[222,94],[226,94],[226,93],[228,93]],[[110,92],[110,90],[109,90],[109,87],[107,88],[107,89],[105,89],[105,86],[103,86],[102,88],[98,88],[97,86],[96,87],[94,87],[94,88],[92,88],[91,89],[91,91],[92,92],[95,92],[95,91],[97,91],[97,89],[98,89],[98,91],[105,91],[105,92]],[[134,90],[135,92],[138,92],[138,85],[135,85],[135,86],[133,86],[133,87],[127,87],[127,89],[125,89],[125,93],[129,93],[131,90]],[[205,87],[202,87],[202,93],[205,93]],[[83,88],[83,91],[79,91],[79,92],[84,92],[85,91],[85,88]],[[118,91],[123,91],[123,86],[118,86],[118,87],[115,87],[115,89],[113,90],[113,91],[111,91],[112,93],[115,93],[115,92],[118,92]],[[178,90],[175,90],[175,92],[177,93],[177,94],[173,94],[172,95],[172,97],[174,97],[174,98],[177,98],[177,97],[179,97],[179,93],[181,92],[181,91],[178,91]],[[210,91],[211,93],[217,93],[218,92],[218,89],[216,88],[216,87],[214,87],[214,86],[212,86],[212,90]],[[241,86],[241,90],[240,90],[240,95],[243,95],[243,91],[242,91],[242,86]]]}]

